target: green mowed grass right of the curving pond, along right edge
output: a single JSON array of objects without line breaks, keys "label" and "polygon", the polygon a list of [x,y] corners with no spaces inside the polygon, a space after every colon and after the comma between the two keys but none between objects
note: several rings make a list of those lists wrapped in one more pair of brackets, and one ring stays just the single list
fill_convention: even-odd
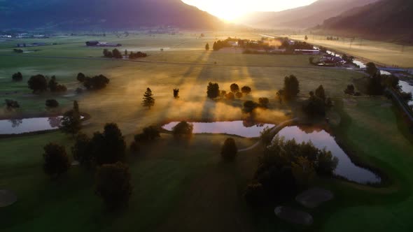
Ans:
[{"label": "green mowed grass right of the curving pond, along right edge", "polygon": [[367,164],[381,168],[388,187],[326,184],[337,200],[329,207],[319,231],[412,231],[413,136],[398,109],[382,99],[358,99],[344,105],[343,123],[335,134]]}]

